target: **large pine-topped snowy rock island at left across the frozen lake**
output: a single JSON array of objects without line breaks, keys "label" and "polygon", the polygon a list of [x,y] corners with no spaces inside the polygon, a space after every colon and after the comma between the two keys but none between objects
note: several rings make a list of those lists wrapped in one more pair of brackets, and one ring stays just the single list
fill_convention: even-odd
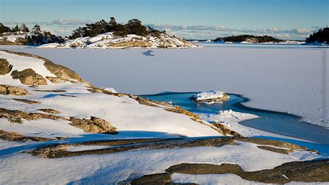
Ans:
[{"label": "large pine-topped snowy rock island at left across the frozen lake", "polygon": [[63,38],[49,31],[42,32],[40,25],[29,31],[25,24],[10,29],[0,24],[0,45],[33,45],[39,48],[197,48],[183,38],[176,38],[166,31],[144,26],[139,19],[119,24],[115,17],[106,22],[85,24]]}]

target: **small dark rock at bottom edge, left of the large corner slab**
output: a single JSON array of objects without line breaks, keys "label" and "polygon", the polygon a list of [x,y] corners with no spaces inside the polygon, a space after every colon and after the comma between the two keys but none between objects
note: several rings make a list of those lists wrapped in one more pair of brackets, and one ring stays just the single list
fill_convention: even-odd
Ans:
[{"label": "small dark rock at bottom edge, left of the large corner slab", "polygon": [[130,184],[172,184],[171,173],[163,172],[152,175],[144,175],[140,178],[133,179]]}]

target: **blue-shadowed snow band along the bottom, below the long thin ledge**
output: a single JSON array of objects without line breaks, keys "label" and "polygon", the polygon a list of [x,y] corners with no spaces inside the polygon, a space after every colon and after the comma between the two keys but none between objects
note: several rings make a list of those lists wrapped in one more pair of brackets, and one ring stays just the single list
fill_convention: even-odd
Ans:
[{"label": "blue-shadowed snow band along the bottom, below the long thin ledge", "polygon": [[[0,184],[110,184],[127,182],[145,174],[165,172],[169,166],[179,163],[236,163],[243,170],[253,171],[273,168],[288,161],[317,157],[319,155],[307,151],[278,154],[261,150],[252,143],[174,150],[137,150],[62,159],[42,159],[16,153],[1,156],[0,168],[6,170],[0,170]],[[223,183],[229,183],[232,179],[232,175],[224,178]],[[178,181],[177,175],[174,175],[174,180]],[[209,179],[209,182],[212,180]],[[234,182],[241,181],[242,179],[235,178]]]}]

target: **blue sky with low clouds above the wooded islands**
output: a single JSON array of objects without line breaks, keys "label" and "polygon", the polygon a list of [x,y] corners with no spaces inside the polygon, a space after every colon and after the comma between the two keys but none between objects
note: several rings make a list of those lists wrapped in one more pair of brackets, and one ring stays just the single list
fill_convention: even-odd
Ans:
[{"label": "blue sky with low clouds above the wooded islands", "polygon": [[187,39],[267,34],[305,40],[328,24],[329,0],[0,0],[1,23],[40,24],[57,35],[110,17],[120,23],[137,18]]}]

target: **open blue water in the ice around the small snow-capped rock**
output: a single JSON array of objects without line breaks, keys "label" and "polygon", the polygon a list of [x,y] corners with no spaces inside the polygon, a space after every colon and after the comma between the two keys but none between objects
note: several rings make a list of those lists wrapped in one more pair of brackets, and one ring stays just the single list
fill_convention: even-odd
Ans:
[{"label": "open blue water in the ice around the small snow-capped rock", "polygon": [[246,120],[239,122],[239,124],[275,134],[310,140],[326,145],[327,148],[329,147],[328,129],[307,122],[301,122],[301,118],[296,115],[244,106],[241,103],[247,102],[248,99],[240,95],[230,94],[230,100],[221,104],[192,102],[189,99],[192,95],[194,93],[161,93],[158,95],[143,95],[142,97],[155,101],[172,102],[172,104],[181,106],[192,113],[217,114],[218,111],[229,109],[242,113],[251,113],[260,116],[260,118]]}]

